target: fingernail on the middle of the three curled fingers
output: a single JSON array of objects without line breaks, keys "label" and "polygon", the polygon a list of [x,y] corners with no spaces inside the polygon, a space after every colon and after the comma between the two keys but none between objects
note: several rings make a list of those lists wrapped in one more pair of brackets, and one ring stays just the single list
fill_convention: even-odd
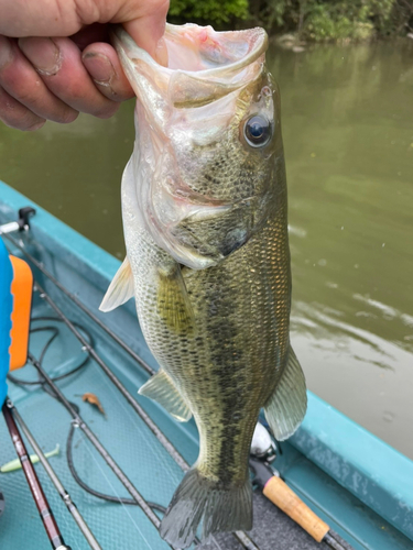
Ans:
[{"label": "fingernail on the middle of the three curled fingers", "polygon": [[20,38],[19,47],[41,75],[55,75],[62,66],[61,51],[52,38]]}]

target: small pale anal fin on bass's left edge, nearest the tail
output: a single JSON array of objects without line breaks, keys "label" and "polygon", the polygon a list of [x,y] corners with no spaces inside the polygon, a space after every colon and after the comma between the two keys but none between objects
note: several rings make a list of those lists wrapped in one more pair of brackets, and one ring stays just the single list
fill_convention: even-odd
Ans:
[{"label": "small pale anal fin on bass's left edge, nearest the tail", "polygon": [[157,402],[180,422],[186,422],[192,417],[189,407],[165,371],[152,376],[143,384],[139,394]]}]

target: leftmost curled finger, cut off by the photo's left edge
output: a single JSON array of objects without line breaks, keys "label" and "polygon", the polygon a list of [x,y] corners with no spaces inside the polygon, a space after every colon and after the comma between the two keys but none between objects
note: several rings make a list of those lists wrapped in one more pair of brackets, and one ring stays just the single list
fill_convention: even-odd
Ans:
[{"label": "leftmost curled finger, cut off by the photo's left edge", "polygon": [[15,41],[0,36],[0,86],[42,119],[72,122],[77,112],[48,91]]}]

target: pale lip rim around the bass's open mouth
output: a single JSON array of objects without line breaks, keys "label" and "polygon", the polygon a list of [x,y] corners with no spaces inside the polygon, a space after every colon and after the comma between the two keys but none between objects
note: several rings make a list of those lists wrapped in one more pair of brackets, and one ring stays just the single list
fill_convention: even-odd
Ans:
[{"label": "pale lip rim around the bass's open mouth", "polygon": [[[187,23],[185,25],[173,25],[171,23],[166,23],[166,29],[165,29],[165,37],[167,38],[169,36],[171,37],[176,37],[181,36],[183,33],[183,30],[187,30],[189,28],[198,28],[198,29],[211,29],[211,26],[199,26],[195,25],[192,23]],[[247,55],[242,56],[240,59],[235,61],[233,63],[228,63],[218,67],[214,68],[208,68],[208,69],[200,69],[200,70],[188,70],[188,69],[173,69],[170,67],[165,67],[161,64],[159,64],[151,55],[149,55],[148,52],[139,47],[133,38],[130,36],[130,34],[123,29],[121,25],[112,25],[111,31],[110,31],[110,37],[111,42],[113,43],[116,50],[118,51],[118,54],[121,55],[121,58],[124,61],[132,62],[133,58],[137,58],[137,52],[139,53],[139,58],[151,65],[153,68],[156,68],[157,72],[163,73],[165,76],[172,76],[175,73],[182,73],[186,75],[191,75],[192,77],[195,77],[196,79],[209,79],[209,78],[217,78],[221,76],[221,74],[230,74],[230,73],[238,73],[242,68],[247,67],[248,65],[251,65],[256,61],[259,59],[261,55],[263,55],[267,52],[268,44],[269,44],[269,38],[268,34],[262,28],[254,28],[254,29],[249,29],[246,31],[214,31],[217,34],[220,35],[233,35],[237,34],[240,36],[241,34],[246,34],[250,36],[250,41],[252,41],[253,45],[252,48],[248,52]],[[133,55],[134,53],[134,55]]]}]

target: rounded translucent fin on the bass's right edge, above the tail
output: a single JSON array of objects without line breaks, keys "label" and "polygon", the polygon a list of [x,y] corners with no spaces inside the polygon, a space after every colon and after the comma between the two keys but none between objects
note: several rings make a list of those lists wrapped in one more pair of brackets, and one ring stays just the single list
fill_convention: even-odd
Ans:
[{"label": "rounded translucent fin on the bass's right edge, above the tail", "polygon": [[298,428],[307,408],[305,378],[290,345],[289,362],[274,393],[264,406],[265,418],[275,439],[283,441]]}]

